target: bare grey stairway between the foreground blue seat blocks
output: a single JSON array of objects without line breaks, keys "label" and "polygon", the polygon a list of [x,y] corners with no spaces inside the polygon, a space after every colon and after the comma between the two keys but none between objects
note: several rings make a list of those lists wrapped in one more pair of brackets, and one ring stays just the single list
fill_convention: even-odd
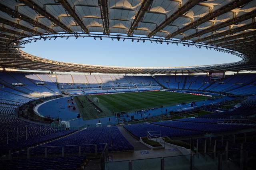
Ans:
[{"label": "bare grey stairway between the foreground blue seat blocks", "polygon": [[127,139],[127,141],[134,147],[134,150],[149,150],[148,147],[140,143],[137,139],[135,139],[130,133],[128,133],[124,127],[118,126],[119,131],[122,135]]}]

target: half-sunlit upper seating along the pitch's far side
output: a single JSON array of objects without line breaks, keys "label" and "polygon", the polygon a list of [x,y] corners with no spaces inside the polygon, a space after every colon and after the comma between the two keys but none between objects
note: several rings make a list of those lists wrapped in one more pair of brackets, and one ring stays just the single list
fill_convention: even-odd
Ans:
[{"label": "half-sunlit upper seating along the pitch's far side", "polygon": [[74,74],[56,75],[56,77],[60,90],[62,92],[68,92],[72,95],[161,89],[159,84],[151,76]]}]

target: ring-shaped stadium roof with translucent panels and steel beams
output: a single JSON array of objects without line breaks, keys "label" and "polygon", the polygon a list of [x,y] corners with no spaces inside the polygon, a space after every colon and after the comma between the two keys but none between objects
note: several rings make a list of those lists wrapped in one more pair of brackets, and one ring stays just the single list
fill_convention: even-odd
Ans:
[{"label": "ring-shaped stadium roof with translucent panels and steel beams", "polygon": [[[255,70],[255,21],[256,0],[1,0],[0,66],[134,74]],[[234,53],[242,61],[180,68],[96,66],[42,59],[13,48],[18,41],[57,36],[196,45]]]}]

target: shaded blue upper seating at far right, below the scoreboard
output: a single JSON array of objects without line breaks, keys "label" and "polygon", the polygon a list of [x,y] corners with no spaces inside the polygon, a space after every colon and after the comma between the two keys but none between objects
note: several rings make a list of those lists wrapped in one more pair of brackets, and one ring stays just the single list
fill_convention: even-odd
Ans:
[{"label": "shaded blue upper seating at far right, below the scoreboard", "polygon": [[155,80],[167,89],[202,90],[234,95],[256,94],[256,74],[228,75],[226,79],[210,81],[206,75],[155,76]]}]

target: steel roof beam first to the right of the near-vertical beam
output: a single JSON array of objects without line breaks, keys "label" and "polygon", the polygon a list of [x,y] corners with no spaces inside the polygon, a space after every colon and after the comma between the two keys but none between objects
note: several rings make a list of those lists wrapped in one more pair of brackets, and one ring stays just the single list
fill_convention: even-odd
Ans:
[{"label": "steel roof beam first to the right of the near-vertical beam", "polygon": [[128,36],[132,35],[134,29],[138,26],[139,22],[142,21],[142,18],[144,17],[146,11],[149,11],[150,6],[152,4],[153,0],[144,0],[140,6],[140,10],[135,16],[134,21],[132,22],[132,25],[130,29],[128,30]]}]

